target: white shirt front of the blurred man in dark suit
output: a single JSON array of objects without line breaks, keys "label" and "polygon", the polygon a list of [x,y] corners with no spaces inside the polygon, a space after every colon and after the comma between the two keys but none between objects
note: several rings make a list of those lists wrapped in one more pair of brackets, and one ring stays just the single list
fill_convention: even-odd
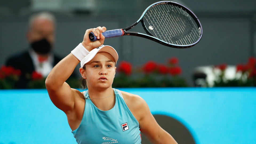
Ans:
[{"label": "white shirt front of the blurred man in dark suit", "polygon": [[49,54],[48,59],[43,62],[38,61],[38,54],[33,49],[29,50],[29,54],[33,61],[35,71],[41,73],[43,77],[47,77],[50,71],[53,69],[53,54]]}]

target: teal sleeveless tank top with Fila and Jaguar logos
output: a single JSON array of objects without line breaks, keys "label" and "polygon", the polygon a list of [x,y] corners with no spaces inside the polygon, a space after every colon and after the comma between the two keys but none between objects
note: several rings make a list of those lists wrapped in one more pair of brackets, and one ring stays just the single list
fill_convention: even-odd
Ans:
[{"label": "teal sleeveless tank top with Fila and Jaguar logos", "polygon": [[[78,144],[140,144],[139,123],[127,107],[121,92],[113,89],[115,105],[102,111],[86,99],[83,118],[77,129],[71,131]],[[89,98],[88,90],[84,97]]]}]

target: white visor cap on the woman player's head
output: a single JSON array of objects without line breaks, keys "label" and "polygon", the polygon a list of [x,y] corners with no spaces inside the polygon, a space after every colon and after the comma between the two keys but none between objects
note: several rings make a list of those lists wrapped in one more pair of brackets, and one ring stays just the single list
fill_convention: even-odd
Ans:
[{"label": "white visor cap on the woman player's head", "polygon": [[99,52],[106,52],[112,55],[112,57],[115,59],[115,64],[117,64],[118,60],[118,54],[117,51],[112,46],[104,46],[101,45],[93,50],[90,51],[88,55],[86,55],[85,58],[81,61],[81,67],[83,67],[87,62],[91,61],[95,57],[95,55]]}]

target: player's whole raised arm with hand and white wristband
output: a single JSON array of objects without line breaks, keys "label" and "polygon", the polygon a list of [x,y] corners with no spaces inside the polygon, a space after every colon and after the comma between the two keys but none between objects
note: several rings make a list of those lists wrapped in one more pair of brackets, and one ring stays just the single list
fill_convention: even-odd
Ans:
[{"label": "player's whole raised arm with hand and white wristband", "polygon": [[[86,30],[83,42],[81,43],[82,46],[80,45],[79,49],[76,49],[73,54],[70,53],[63,58],[56,66],[54,66],[46,78],[45,85],[51,101],[65,113],[69,110],[73,110],[75,97],[81,95],[78,90],[71,89],[65,82],[81,60],[81,55],[78,50],[81,50],[81,53],[84,53],[85,57],[86,53],[89,53],[92,49],[102,45],[105,37],[101,33],[104,31],[106,31],[106,27],[97,27]],[[91,42],[89,39],[90,32],[93,32],[99,41]]]}]

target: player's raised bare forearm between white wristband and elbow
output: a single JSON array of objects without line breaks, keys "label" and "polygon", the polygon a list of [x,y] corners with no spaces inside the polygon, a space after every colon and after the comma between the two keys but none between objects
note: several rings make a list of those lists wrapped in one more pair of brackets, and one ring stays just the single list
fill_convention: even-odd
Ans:
[{"label": "player's raised bare forearm between white wristband and elbow", "polygon": [[56,66],[53,67],[51,72],[46,78],[46,86],[57,89],[61,87],[63,83],[73,73],[75,67],[80,61],[73,55],[69,54],[63,58]]}]

